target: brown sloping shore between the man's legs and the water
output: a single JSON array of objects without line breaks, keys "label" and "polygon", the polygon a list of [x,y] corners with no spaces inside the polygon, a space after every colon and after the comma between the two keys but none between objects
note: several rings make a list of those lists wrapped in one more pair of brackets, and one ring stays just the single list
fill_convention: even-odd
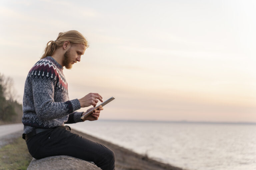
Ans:
[{"label": "brown sloping shore between the man's legs and the water", "polygon": [[116,170],[184,170],[182,168],[155,161],[148,158],[146,155],[134,153],[116,144],[104,141],[75,129],[72,129],[72,131],[101,143],[113,150],[116,156]]}]

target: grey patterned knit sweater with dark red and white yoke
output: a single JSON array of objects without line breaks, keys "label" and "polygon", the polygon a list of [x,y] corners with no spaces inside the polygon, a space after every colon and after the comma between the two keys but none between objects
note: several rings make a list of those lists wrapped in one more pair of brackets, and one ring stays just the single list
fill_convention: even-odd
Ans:
[{"label": "grey patterned knit sweater with dark red and white yoke", "polygon": [[23,96],[24,133],[82,122],[78,99],[69,100],[63,67],[52,57],[39,60],[29,71]]}]

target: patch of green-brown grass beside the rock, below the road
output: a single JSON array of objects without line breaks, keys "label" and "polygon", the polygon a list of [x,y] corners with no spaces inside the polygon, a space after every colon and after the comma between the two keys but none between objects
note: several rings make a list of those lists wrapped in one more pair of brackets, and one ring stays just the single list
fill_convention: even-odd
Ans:
[{"label": "patch of green-brown grass beside the rock, below the road", "polygon": [[26,142],[20,137],[0,148],[0,170],[26,170],[31,160]]}]

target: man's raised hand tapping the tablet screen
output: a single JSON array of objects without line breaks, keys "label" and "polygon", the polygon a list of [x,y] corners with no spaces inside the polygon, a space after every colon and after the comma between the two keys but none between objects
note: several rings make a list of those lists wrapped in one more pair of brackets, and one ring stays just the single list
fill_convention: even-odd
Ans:
[{"label": "man's raised hand tapping the tablet screen", "polygon": [[98,93],[89,93],[88,95],[84,96],[81,99],[78,99],[81,105],[81,108],[88,107],[88,106],[93,106],[95,107],[96,104],[98,103],[99,99],[101,102],[103,102],[101,95]]}]

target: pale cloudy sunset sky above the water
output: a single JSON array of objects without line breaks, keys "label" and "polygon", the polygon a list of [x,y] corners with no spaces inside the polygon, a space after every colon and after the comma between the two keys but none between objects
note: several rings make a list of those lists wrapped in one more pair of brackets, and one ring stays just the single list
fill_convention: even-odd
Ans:
[{"label": "pale cloudy sunset sky above the water", "polygon": [[256,122],[255,7],[249,0],[1,0],[0,73],[13,78],[22,103],[46,43],[77,30],[90,46],[64,69],[69,98],[115,97],[101,119]]}]

